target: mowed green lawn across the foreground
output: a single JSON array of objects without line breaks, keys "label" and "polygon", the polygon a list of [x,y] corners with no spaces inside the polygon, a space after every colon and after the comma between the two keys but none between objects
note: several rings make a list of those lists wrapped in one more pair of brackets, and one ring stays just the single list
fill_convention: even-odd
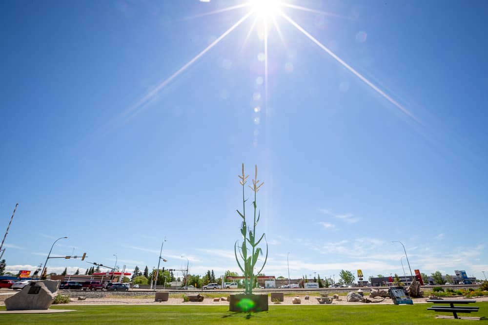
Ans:
[{"label": "mowed green lawn across the foreground", "polygon": [[[488,303],[476,303],[471,316],[488,317]],[[436,319],[431,304],[413,306],[269,306],[268,312],[232,313],[227,306],[52,306],[76,309],[59,314],[0,315],[0,324],[471,324],[471,321]],[[5,307],[0,307],[5,310]],[[452,315],[452,314],[451,314]],[[469,316],[469,314],[466,314]],[[473,323],[480,324],[480,323]],[[482,320],[481,324],[488,324]]]}]

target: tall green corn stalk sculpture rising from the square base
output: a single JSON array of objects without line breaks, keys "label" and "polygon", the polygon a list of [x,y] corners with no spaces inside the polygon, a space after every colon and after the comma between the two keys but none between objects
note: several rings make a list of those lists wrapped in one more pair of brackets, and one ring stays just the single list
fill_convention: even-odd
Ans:
[{"label": "tall green corn stalk sculpture rising from the square base", "polygon": [[[246,223],[246,215],[245,215],[245,203],[247,199],[244,198],[244,188],[245,184],[247,182],[247,177],[249,175],[244,174],[244,164],[243,164],[243,174],[239,175],[239,178],[241,179],[239,183],[243,187],[243,213],[241,213],[239,210],[236,210],[237,213],[243,218],[243,222],[241,224],[241,233],[243,236],[243,243],[241,246],[239,246],[239,240],[236,241],[234,245],[234,253],[236,255],[236,261],[237,265],[239,265],[239,268],[243,271],[244,273],[244,286],[245,286],[245,293],[246,294],[252,294],[252,285],[253,285],[253,278],[254,278],[254,267],[256,263],[258,262],[258,257],[263,254],[263,249],[259,248],[258,245],[261,243],[261,241],[264,238],[264,241],[266,242],[266,257],[264,258],[264,263],[261,269],[258,271],[257,274],[261,273],[261,271],[264,268],[264,265],[266,264],[266,261],[268,259],[268,243],[266,241],[266,236],[263,233],[261,237],[259,238],[258,241],[256,241],[256,225],[259,222],[259,218],[261,216],[261,212],[257,211],[257,218],[256,218],[256,195],[263,186],[263,182],[260,183],[258,180],[258,166],[255,166],[255,172],[254,172],[254,179],[252,180],[252,186],[249,185],[249,188],[254,192],[254,201],[252,202],[252,205],[254,207],[254,222],[252,223],[251,227],[248,227]],[[239,258],[237,256],[239,252],[239,255],[241,257],[241,260],[243,262],[239,261]]]}]

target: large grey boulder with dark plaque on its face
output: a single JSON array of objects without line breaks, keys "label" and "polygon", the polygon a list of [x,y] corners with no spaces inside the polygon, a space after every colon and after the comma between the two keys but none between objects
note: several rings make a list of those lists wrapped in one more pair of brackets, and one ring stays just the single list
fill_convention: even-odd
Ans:
[{"label": "large grey boulder with dark plaque on its face", "polygon": [[49,309],[56,298],[60,281],[32,281],[22,291],[5,299],[7,310]]}]

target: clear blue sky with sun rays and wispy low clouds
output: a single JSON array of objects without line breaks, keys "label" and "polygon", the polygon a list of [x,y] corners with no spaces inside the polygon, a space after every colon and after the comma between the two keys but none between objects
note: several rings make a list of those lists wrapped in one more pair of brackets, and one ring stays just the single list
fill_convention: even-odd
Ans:
[{"label": "clear blue sky with sun rays and wispy low clouds", "polygon": [[481,278],[487,4],[283,2],[297,25],[222,11],[244,1],[2,2],[7,269],[68,236],[55,255],[152,268],[167,237],[166,268],[237,271],[244,163],[266,275],[403,274],[399,240],[412,271]]}]

